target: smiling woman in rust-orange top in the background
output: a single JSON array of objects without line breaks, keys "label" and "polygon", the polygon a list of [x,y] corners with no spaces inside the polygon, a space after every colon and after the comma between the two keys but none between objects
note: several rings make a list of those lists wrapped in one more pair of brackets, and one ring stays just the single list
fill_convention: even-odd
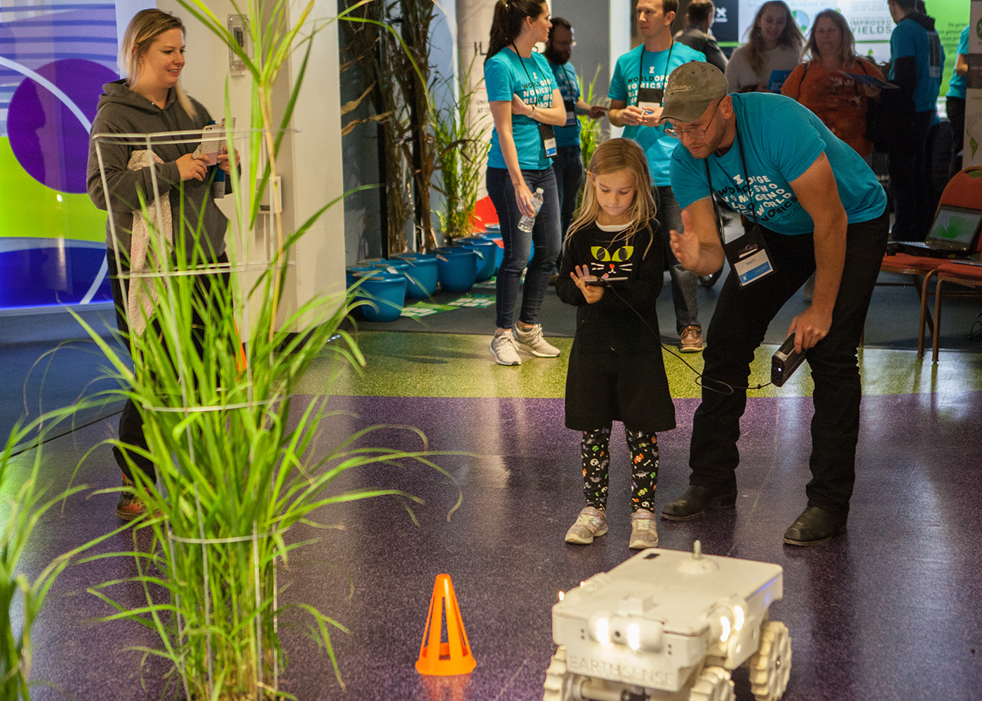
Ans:
[{"label": "smiling woman in rust-orange top in the background", "polygon": [[872,62],[856,56],[855,39],[846,19],[835,10],[815,17],[805,50],[809,60],[800,64],[785,81],[781,93],[814,112],[834,135],[852,146],[869,162],[873,142],[866,137],[869,97],[879,91],[855,81],[849,74],[883,74]]}]

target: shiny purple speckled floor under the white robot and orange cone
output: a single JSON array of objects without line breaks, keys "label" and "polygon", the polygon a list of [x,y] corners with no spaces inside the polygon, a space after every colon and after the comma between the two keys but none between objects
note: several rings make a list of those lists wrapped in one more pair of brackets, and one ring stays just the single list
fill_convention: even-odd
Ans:
[{"label": "shiny purple speckled floor under the white robot and orange cone", "polygon": [[[581,507],[578,436],[563,426],[562,400],[335,398],[339,417],[328,445],[353,427],[406,423],[422,429],[437,451],[476,457],[437,461],[464,491],[447,521],[457,487],[422,467],[350,474],[338,487],[398,485],[425,499],[414,512],[395,499],[338,507],[321,516],[346,530],[295,532],[321,537],[301,550],[286,597],[320,607],[352,629],[337,634],[347,692],[327,658],[302,635],[284,633],[291,654],[284,679],[302,701],[537,701],[553,652],[550,607],[560,589],[609,569],[627,549],[627,453],[615,430],[610,532],[592,546],[566,545],[563,535]],[[680,400],[681,428],[659,436],[658,504],[687,484],[688,431],[696,402]],[[846,534],[811,549],[782,544],[784,529],[804,507],[808,479],[810,401],[753,399],[743,420],[739,499],[734,512],[689,523],[659,521],[662,547],[689,549],[699,538],[712,554],[777,563],[785,599],[772,618],[791,629],[790,701],[982,699],[982,393],[891,395],[863,400],[858,481]],[[110,433],[108,422],[46,447],[54,472],[71,470],[82,453]],[[386,429],[375,445],[418,446],[409,433]],[[93,488],[113,486],[108,450],[82,465]],[[619,498],[619,495],[623,498]],[[27,568],[116,525],[112,495],[78,499],[37,531]],[[125,549],[128,541],[107,544]],[[132,561],[69,569],[52,591],[35,629],[33,676],[73,698],[155,699],[161,667],[151,663],[141,686],[140,654],[152,643],[129,623],[82,622],[109,613],[85,587],[124,576]],[[448,572],[464,616],[477,669],[466,677],[426,679],[413,669],[433,579]],[[354,592],[350,587],[354,587]],[[117,592],[136,603],[136,587]],[[738,699],[752,698],[737,671]],[[63,698],[38,687],[36,699]]]}]

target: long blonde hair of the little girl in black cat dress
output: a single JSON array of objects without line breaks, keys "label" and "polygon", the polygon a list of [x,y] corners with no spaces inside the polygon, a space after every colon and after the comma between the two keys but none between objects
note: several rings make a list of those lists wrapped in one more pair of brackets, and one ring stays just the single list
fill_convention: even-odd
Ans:
[{"label": "long blonde hair of the little girl in black cat dress", "polygon": [[[597,146],[587,167],[587,173],[594,177],[625,170],[634,176],[634,201],[630,207],[630,225],[619,232],[614,241],[630,243],[635,234],[648,228],[648,222],[655,216],[655,198],[651,194],[651,175],[648,173],[648,160],[644,151],[629,138],[612,138]],[[587,181],[583,189],[583,202],[576,212],[576,219],[570,225],[565,243],[577,231],[596,222],[599,213],[600,202],[597,201],[596,187]],[[654,236],[645,247],[642,258],[647,256],[651,243],[654,243]]]}]

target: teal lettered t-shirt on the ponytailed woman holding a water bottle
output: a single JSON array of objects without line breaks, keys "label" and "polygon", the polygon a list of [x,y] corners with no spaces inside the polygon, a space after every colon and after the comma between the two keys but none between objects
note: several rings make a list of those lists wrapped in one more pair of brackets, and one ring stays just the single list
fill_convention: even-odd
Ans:
[{"label": "teal lettered t-shirt on the ponytailed woman holding a water bottle", "polygon": [[[552,107],[552,92],[559,89],[544,56],[533,52],[530,58],[523,59],[508,47],[484,64],[484,84],[489,102],[511,102],[512,96],[518,95],[536,107]],[[552,166],[552,159],[546,158],[542,145],[539,123],[531,117],[512,115],[512,138],[521,170],[542,171]],[[491,133],[488,168],[508,168],[497,129]]]}]

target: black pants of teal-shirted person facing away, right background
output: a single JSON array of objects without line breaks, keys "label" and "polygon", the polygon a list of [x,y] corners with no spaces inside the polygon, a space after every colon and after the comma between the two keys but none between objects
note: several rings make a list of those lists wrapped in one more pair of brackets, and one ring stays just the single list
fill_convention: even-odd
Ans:
[{"label": "black pants of teal-shirted person facing away, right background", "polygon": [[926,148],[934,112],[899,120],[890,147],[890,188],[894,195],[894,241],[924,241],[934,219],[934,184],[928,183]]}]

